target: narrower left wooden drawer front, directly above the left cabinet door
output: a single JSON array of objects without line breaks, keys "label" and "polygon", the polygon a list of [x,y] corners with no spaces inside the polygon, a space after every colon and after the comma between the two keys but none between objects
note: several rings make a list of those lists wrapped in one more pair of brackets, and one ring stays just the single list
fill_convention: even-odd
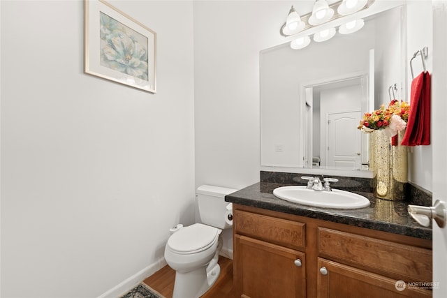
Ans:
[{"label": "narrower left wooden drawer front, directly above the left cabinet door", "polygon": [[235,210],[235,233],[303,250],[305,248],[305,223],[273,218],[261,214]]}]

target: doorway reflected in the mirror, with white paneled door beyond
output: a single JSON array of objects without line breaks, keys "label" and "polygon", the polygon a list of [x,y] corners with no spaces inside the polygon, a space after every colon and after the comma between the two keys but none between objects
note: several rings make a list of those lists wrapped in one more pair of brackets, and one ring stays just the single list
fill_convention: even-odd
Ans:
[{"label": "doorway reflected in the mirror, with white paneled door beyond", "polygon": [[357,126],[367,97],[365,80],[329,81],[307,87],[305,96],[305,164],[310,166],[312,159],[312,167],[359,170],[362,134]]}]

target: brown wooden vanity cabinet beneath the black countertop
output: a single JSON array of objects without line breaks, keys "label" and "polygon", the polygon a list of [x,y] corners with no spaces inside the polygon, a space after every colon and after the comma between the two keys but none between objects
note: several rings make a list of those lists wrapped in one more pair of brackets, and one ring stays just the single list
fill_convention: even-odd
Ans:
[{"label": "brown wooden vanity cabinet beneath the black countertop", "polygon": [[236,297],[432,296],[396,288],[432,281],[429,240],[239,204],[233,233]]}]

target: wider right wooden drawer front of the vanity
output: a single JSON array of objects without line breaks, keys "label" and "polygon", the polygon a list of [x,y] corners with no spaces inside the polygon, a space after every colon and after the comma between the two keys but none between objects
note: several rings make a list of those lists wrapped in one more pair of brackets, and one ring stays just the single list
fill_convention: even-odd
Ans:
[{"label": "wider right wooden drawer front of the vanity", "polygon": [[405,281],[432,281],[432,251],[318,228],[318,255]]}]

